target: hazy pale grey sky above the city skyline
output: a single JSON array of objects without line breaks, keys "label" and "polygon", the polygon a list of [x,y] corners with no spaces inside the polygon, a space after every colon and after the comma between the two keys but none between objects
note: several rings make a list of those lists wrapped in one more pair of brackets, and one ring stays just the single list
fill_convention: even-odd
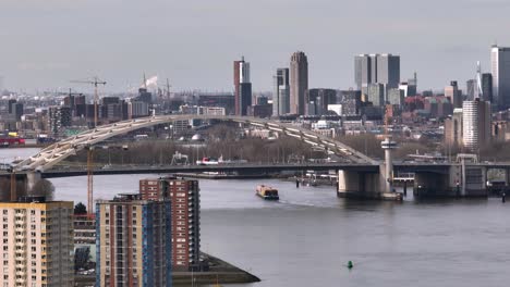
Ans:
[{"label": "hazy pale grey sky above the city skyline", "polygon": [[174,89],[232,90],[232,61],[251,62],[254,90],[296,50],[309,87],[354,86],[353,57],[401,57],[402,80],[420,89],[461,86],[489,47],[510,46],[509,0],[0,0],[0,75],[12,89],[138,85],[169,77]]}]

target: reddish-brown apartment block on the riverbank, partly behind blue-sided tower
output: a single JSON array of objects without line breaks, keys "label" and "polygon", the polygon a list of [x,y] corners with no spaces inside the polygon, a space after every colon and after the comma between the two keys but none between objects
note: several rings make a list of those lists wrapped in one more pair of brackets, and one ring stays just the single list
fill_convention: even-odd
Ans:
[{"label": "reddish-brown apartment block on the riverbank, partly behind blue-sided tower", "polygon": [[199,269],[201,200],[198,180],[139,180],[143,199],[169,199],[172,207],[172,264],[175,270]]}]

